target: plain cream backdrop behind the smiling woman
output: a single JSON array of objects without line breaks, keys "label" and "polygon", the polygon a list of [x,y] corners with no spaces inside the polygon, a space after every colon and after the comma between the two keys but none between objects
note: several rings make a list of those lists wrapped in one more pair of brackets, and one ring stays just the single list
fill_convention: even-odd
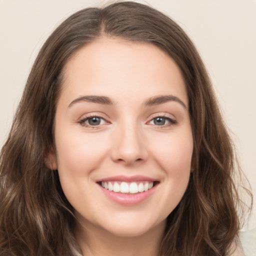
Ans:
[{"label": "plain cream backdrop behind the smiling woman", "polygon": [[[140,1],[145,3],[145,1]],[[256,1],[147,0],[190,35],[210,73],[256,194]],[[0,146],[38,49],[65,17],[99,0],[0,0]],[[256,227],[256,207],[244,229]]]}]

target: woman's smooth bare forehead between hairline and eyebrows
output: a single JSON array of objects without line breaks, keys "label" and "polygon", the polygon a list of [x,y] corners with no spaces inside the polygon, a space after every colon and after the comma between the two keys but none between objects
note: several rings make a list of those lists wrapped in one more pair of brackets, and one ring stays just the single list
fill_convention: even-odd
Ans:
[{"label": "woman's smooth bare forehead between hairline and eyebrows", "polygon": [[[79,49],[63,70],[66,97],[176,94],[188,101],[181,72],[163,50],[146,42],[100,38]],[[61,96],[61,95],[60,95]],[[139,95],[137,95],[139,96]]]}]

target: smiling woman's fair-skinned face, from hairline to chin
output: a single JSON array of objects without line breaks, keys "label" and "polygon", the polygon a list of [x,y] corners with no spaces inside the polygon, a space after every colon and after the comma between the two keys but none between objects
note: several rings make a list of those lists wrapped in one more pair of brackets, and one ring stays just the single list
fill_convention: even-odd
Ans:
[{"label": "smiling woman's fair-skinned face, from hairline to chin", "polygon": [[101,38],[67,62],[62,86],[51,157],[79,223],[122,236],[164,227],[193,150],[176,63],[151,44]]}]

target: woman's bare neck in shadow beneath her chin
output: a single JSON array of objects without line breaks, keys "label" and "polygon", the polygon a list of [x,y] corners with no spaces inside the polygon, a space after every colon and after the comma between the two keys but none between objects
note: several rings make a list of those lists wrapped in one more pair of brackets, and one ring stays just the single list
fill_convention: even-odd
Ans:
[{"label": "woman's bare neck in shadow beneath her chin", "polygon": [[79,225],[75,236],[86,256],[156,256],[164,229],[165,221],[140,235],[118,236],[100,227]]}]

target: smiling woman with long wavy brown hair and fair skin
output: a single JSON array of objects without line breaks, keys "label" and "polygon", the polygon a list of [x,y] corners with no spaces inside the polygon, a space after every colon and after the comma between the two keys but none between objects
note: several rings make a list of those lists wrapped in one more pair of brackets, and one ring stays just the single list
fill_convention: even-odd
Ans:
[{"label": "smiling woman with long wavy brown hair and fair skin", "polygon": [[1,151],[1,255],[230,255],[234,157],[203,63],[134,2],[49,36]]}]

